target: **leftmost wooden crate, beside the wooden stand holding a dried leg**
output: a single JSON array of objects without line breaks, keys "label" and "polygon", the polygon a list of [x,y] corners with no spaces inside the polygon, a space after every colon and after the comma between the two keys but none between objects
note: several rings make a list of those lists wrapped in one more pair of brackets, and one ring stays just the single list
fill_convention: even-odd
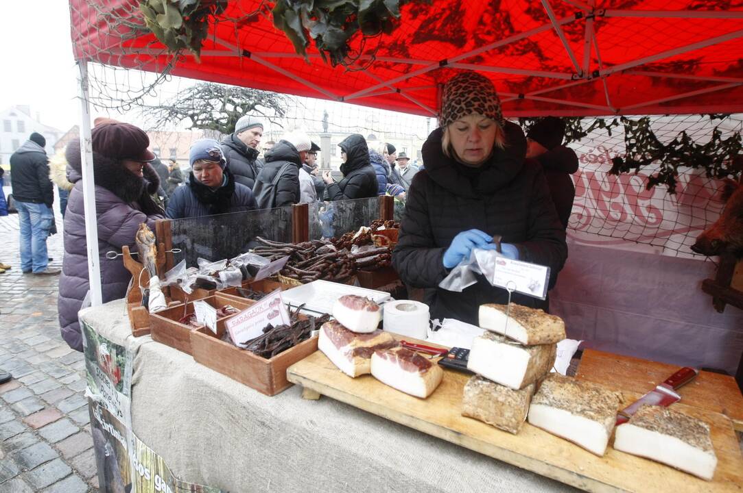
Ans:
[{"label": "leftmost wooden crate, beside the wooden stand holding a dried leg", "polygon": [[[195,300],[196,301],[196,300]],[[224,305],[233,305],[239,310],[244,310],[250,305],[253,305],[251,300],[239,300],[236,297],[226,297],[221,294],[215,294],[211,297],[206,297],[203,300],[209,303],[215,308],[221,308]],[[190,325],[178,322],[182,317],[194,312],[193,302],[188,302],[185,305],[177,305],[172,308],[166,308],[163,311],[158,311],[154,314],[149,314],[149,328],[152,333],[152,339],[169,345],[171,348],[178,349],[187,354],[192,354],[191,351],[191,337],[190,334],[195,330]],[[217,320],[217,334],[215,337],[222,337],[224,335],[224,322],[233,317],[222,317]],[[204,327],[204,325],[201,325]],[[210,328],[204,327],[207,331],[213,334]]]}]

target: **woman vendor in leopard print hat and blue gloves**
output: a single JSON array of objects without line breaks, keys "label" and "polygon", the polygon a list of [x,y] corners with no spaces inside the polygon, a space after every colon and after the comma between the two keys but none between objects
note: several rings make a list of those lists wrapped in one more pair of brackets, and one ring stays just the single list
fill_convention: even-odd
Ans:
[{"label": "woman vendor in leopard print hat and blue gloves", "polygon": [[[461,293],[438,288],[473,248],[495,249],[500,235],[505,256],[557,273],[568,247],[542,169],[525,160],[524,133],[503,118],[489,79],[472,71],[450,79],[440,123],[423,146],[426,169],[407,193],[392,263],[403,282],[429,288],[432,318],[477,325],[479,305],[506,303],[507,291],[483,277]],[[511,301],[541,303],[518,293]]]}]

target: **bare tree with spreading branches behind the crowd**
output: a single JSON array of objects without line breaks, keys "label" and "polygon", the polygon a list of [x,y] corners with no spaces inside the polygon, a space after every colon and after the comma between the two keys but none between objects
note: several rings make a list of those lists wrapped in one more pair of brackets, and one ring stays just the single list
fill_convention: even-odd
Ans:
[{"label": "bare tree with spreading branches behind the crowd", "polygon": [[232,87],[198,82],[146,113],[153,129],[171,127],[188,119],[189,128],[214,130],[222,135],[233,133],[241,116],[261,115],[276,122],[286,115],[288,96],[250,87]]}]

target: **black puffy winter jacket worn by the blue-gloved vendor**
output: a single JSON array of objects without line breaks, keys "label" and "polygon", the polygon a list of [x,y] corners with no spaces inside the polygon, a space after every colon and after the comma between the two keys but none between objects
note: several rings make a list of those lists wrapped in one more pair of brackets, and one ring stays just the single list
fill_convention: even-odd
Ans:
[{"label": "black puffy winter jacket worn by the blue-gloved vendor", "polygon": [[[426,169],[415,175],[407,192],[400,238],[392,264],[400,279],[426,294],[431,318],[455,318],[478,324],[478,307],[505,303],[507,292],[479,279],[461,293],[438,288],[447,277],[444,251],[461,231],[478,228],[513,243],[519,258],[548,265],[555,273],[568,256],[565,231],[550,199],[539,165],[524,159],[526,139],[518,125],[506,123],[505,150],[496,150],[476,177],[441,150],[442,130],[429,135],[423,146]],[[514,293],[512,301],[537,306],[540,300]]]}]

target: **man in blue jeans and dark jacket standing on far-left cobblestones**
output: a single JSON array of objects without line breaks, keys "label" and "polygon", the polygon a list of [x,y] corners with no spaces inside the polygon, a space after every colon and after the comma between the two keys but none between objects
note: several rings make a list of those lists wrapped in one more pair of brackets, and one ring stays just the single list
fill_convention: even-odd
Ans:
[{"label": "man in blue jeans and dark jacket standing on far-left cobblestones", "polygon": [[59,269],[48,267],[46,240],[54,223],[51,208],[54,190],[49,179],[45,145],[44,136],[34,132],[10,156],[11,186],[21,226],[21,270],[24,274],[59,274]]}]

